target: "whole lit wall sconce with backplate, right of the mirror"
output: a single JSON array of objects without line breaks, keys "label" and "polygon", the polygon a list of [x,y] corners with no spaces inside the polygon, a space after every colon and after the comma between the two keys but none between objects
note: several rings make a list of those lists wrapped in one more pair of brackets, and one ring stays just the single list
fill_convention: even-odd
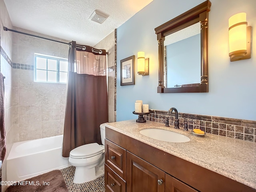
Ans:
[{"label": "whole lit wall sconce with backplate, right of the mirror", "polygon": [[252,26],[247,26],[246,13],[238,13],[228,20],[230,61],[251,58]]}]

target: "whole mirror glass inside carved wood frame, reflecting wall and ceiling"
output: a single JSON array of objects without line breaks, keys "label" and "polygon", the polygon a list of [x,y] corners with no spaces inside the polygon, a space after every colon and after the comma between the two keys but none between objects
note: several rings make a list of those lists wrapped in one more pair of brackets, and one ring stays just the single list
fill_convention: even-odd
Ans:
[{"label": "whole mirror glass inside carved wood frame, reflecting wall and ceiling", "polygon": [[164,86],[183,87],[200,83],[201,31],[200,22],[165,36]]}]

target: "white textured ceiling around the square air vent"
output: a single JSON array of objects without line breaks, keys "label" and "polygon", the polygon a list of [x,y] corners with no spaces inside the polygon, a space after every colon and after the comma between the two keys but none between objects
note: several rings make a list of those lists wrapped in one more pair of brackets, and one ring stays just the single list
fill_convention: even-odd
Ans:
[{"label": "white textured ceiling around the square air vent", "polygon": [[[4,0],[12,25],[94,46],[153,0]],[[94,10],[108,18],[89,20]]]}]

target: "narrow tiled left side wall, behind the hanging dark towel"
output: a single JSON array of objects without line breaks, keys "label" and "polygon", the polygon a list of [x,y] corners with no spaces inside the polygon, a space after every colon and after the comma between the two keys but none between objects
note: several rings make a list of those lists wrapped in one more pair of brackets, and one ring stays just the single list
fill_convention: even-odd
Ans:
[{"label": "narrow tiled left side wall, behind the hanging dark towel", "polygon": [[[18,127],[14,124],[13,112],[16,110],[14,106],[13,97],[13,76],[12,76],[12,34],[8,34],[3,30],[3,26],[12,28],[12,23],[4,4],[4,0],[0,0],[0,71],[5,76],[4,79],[4,117],[5,117],[5,131],[6,131],[6,146],[7,153],[10,153],[12,144],[18,141]],[[1,179],[6,181],[6,158],[2,164]],[[1,185],[1,190],[5,191],[6,186]]]}]

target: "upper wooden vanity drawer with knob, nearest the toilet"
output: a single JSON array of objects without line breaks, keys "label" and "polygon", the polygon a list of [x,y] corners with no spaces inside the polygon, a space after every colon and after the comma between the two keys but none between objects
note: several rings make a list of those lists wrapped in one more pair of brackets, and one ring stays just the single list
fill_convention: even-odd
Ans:
[{"label": "upper wooden vanity drawer with knob, nearest the toilet", "polygon": [[106,139],[105,163],[126,180],[126,150]]}]

